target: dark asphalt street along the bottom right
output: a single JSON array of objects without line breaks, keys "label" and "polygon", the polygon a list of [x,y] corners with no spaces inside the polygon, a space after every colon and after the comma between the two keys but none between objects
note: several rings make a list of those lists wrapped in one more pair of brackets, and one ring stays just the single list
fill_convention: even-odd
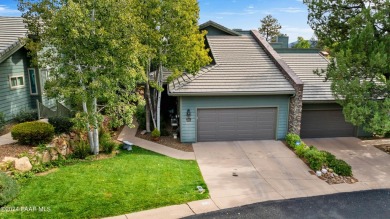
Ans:
[{"label": "dark asphalt street along the bottom right", "polygon": [[390,190],[269,201],[186,218],[390,218]]}]

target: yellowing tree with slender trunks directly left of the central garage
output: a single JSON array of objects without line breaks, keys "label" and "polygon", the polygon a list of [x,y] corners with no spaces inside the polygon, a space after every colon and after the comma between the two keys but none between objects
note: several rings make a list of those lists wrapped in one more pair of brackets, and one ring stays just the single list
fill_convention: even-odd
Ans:
[{"label": "yellowing tree with slender trunks directly left of the central garage", "polygon": [[163,67],[172,72],[169,76],[172,80],[184,71],[196,73],[209,64],[211,58],[205,49],[206,33],[198,29],[199,6],[196,0],[139,0],[137,8],[143,21],[139,37],[147,48],[143,60],[147,108],[154,128],[160,130]]}]

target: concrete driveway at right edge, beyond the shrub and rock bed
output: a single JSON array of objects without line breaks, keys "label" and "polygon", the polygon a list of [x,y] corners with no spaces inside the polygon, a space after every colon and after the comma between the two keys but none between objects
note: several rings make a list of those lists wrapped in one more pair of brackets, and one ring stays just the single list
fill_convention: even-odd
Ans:
[{"label": "concrete driveway at right edge, beyond the shrub and rock bed", "polygon": [[[390,188],[390,155],[362,142],[358,138],[315,138],[303,139],[307,145],[314,145],[320,150],[327,150],[337,158],[345,160],[352,166],[352,173],[359,182],[344,185],[346,189],[356,191],[361,189],[384,189]],[[339,187],[341,187],[340,184]],[[347,188],[348,187],[348,188]],[[339,190],[336,188],[336,190]]]}]

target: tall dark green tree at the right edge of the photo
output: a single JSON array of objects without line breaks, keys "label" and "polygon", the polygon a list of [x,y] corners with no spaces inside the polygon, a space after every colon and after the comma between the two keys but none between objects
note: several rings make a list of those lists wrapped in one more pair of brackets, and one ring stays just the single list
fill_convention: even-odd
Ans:
[{"label": "tall dark green tree at the right edge of the photo", "polygon": [[305,0],[309,25],[330,48],[325,74],[346,119],[390,132],[390,1]]}]

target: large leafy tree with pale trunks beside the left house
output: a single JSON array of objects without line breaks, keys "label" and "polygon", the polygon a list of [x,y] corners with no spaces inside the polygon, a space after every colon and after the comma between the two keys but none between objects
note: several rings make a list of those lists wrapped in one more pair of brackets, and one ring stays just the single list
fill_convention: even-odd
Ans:
[{"label": "large leafy tree with pale trunks beside the left house", "polygon": [[26,46],[40,68],[49,68],[45,88],[50,97],[73,98],[82,105],[78,121],[91,151],[99,152],[101,114],[98,100],[116,125],[131,124],[143,71],[143,47],[136,32],[132,0],[20,0],[30,38]]}]

